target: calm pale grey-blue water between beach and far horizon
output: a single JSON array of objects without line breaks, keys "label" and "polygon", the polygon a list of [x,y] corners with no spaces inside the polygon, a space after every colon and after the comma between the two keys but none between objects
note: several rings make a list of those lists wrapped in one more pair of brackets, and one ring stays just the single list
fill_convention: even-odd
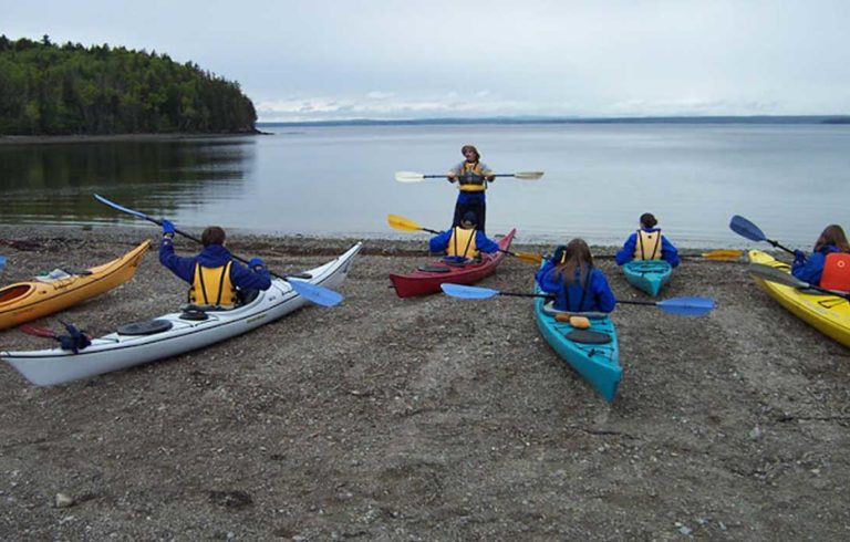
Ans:
[{"label": "calm pale grey-blue water between beach and far horizon", "polygon": [[0,222],[134,222],[96,202],[97,192],[183,229],[218,223],[266,233],[415,238],[390,229],[386,215],[443,229],[457,189],[442,179],[400,184],[394,171],[442,174],[462,159],[464,143],[474,143],[498,173],[546,171],[538,181],[498,179],[488,190],[488,232],[517,227],[519,241],[581,236],[618,244],[644,211],[682,247],[749,246],[728,229],[735,213],[795,246],[810,247],[827,223],[850,227],[850,126],[265,129],[274,133],[0,145]]}]

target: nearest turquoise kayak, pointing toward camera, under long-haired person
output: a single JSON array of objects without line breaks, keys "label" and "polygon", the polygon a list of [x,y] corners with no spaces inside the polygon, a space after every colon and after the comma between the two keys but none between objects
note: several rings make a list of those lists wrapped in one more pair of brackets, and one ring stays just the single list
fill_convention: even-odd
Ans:
[{"label": "nearest turquoise kayak, pointing toward camera, under long-haired person", "polygon": [[590,320],[589,329],[579,330],[556,320],[559,312],[551,302],[535,300],[535,320],[546,342],[605,400],[613,402],[623,375],[613,322],[605,313],[576,313]]}]

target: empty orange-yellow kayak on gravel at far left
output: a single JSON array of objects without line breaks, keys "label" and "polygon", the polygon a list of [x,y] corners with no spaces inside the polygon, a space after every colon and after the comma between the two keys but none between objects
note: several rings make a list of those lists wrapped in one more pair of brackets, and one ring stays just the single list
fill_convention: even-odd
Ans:
[{"label": "empty orange-yellow kayak on gravel at far left", "polygon": [[111,262],[85,271],[55,270],[32,282],[0,289],[0,330],[53,314],[125,283],[151,248],[145,241]]}]

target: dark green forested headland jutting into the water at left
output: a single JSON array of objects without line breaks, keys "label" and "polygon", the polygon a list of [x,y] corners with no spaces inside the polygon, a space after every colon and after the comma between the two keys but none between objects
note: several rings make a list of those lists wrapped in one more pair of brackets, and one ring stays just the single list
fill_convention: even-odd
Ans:
[{"label": "dark green forested headland jutting into the water at left", "polygon": [[252,133],[239,84],[167,54],[0,35],[0,135]]}]

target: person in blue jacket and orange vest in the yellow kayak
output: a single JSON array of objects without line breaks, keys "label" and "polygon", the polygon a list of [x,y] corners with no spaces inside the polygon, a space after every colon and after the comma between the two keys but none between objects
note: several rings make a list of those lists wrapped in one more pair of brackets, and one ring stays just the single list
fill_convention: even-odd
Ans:
[{"label": "person in blue jacket and orange vest in the yellow kayak", "polygon": [[827,290],[850,291],[850,244],[843,228],[837,223],[827,226],[811,256],[795,250],[791,274]]}]

